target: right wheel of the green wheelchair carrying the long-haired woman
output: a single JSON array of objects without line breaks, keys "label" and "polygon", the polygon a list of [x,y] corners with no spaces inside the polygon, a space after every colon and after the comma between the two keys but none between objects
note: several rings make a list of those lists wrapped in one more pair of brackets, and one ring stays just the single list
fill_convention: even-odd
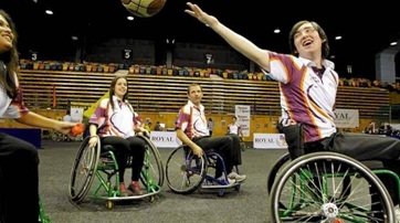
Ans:
[{"label": "right wheel of the green wheelchair carrying the long-haired woman", "polygon": [[[160,190],[165,179],[161,156],[150,139],[145,136],[138,137],[146,144],[146,157],[140,174],[140,181],[147,189],[149,189],[149,187],[155,187],[155,190]],[[151,182],[149,182],[150,180]]]}]

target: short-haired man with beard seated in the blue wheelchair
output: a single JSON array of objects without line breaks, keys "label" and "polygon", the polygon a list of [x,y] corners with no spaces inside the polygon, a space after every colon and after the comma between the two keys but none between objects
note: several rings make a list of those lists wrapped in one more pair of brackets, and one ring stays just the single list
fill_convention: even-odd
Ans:
[{"label": "short-haired man with beard seated in the blue wheelchair", "polygon": [[[232,183],[244,181],[246,178],[244,174],[233,172],[233,167],[242,163],[239,137],[234,135],[210,137],[204,106],[201,104],[201,86],[191,84],[187,94],[189,102],[179,110],[176,126],[177,137],[198,157],[202,156],[202,151],[213,150],[219,153],[224,160],[228,179]],[[222,177],[222,170],[218,168],[215,178],[220,177]]]}]

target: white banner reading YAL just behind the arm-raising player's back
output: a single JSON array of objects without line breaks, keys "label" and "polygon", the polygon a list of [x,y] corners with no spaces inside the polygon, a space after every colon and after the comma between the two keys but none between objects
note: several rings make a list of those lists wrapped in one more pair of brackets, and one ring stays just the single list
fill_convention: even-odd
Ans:
[{"label": "white banner reading YAL just behind the arm-raising player's back", "polygon": [[335,109],[335,124],[338,128],[358,128],[358,109]]}]

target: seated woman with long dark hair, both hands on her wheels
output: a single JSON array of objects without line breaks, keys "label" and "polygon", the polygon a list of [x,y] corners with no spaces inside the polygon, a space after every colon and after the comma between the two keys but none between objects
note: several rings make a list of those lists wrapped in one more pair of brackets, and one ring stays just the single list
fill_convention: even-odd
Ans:
[{"label": "seated woman with long dark hair, both hands on her wheels", "polygon": [[[140,170],[145,158],[145,141],[137,134],[148,135],[141,119],[127,100],[128,81],[125,76],[116,76],[109,87],[109,98],[101,100],[90,119],[91,147],[96,146],[97,135],[101,145],[110,145],[119,167],[119,190],[122,195],[141,195],[139,184]],[[127,158],[131,160],[131,177],[125,187],[124,173]]]}]

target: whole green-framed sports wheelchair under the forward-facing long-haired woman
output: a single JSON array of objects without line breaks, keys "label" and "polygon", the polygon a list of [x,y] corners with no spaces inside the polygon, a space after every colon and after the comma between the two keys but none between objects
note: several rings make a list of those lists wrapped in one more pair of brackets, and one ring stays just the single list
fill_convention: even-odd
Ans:
[{"label": "whole green-framed sports wheelchair under the forward-facing long-haired woman", "polygon": [[[90,192],[94,176],[98,180],[97,187],[91,192],[91,198],[106,200],[106,206],[112,209],[114,201],[137,200],[149,198],[155,201],[155,195],[161,191],[164,184],[164,166],[158,149],[145,136],[137,136],[146,144],[145,161],[140,174],[140,182],[146,188],[143,195],[120,197],[118,164],[112,146],[102,148],[99,138],[95,148],[90,147],[90,137],[81,144],[70,178],[70,200],[81,203]],[[131,162],[131,158],[128,159]],[[127,167],[130,164],[128,163]],[[114,177],[114,180],[113,180]]]}]

